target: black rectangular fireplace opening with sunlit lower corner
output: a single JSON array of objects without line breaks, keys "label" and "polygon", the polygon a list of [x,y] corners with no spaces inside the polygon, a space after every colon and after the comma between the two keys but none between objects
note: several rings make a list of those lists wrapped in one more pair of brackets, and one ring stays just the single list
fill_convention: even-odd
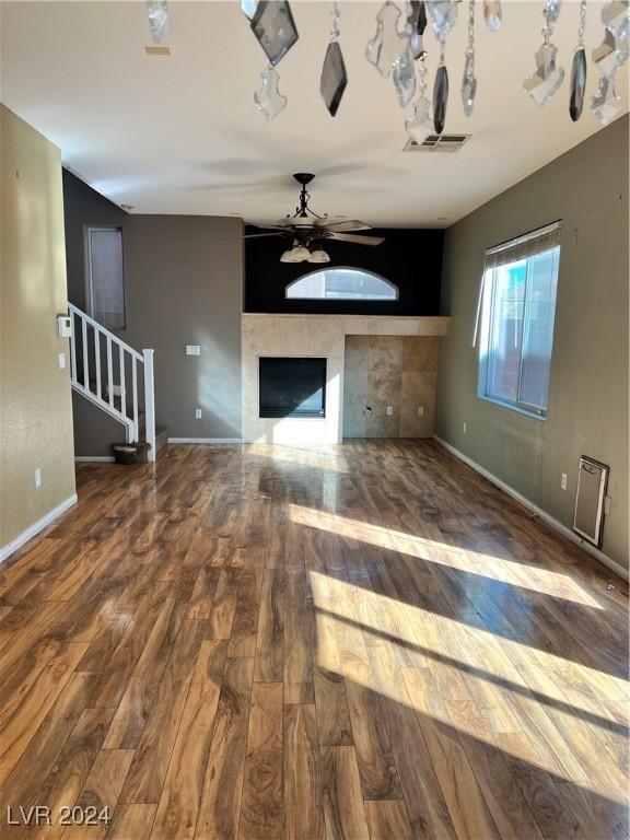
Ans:
[{"label": "black rectangular fireplace opening with sunlit lower corner", "polygon": [[260,417],[326,417],[326,359],[260,358]]}]

